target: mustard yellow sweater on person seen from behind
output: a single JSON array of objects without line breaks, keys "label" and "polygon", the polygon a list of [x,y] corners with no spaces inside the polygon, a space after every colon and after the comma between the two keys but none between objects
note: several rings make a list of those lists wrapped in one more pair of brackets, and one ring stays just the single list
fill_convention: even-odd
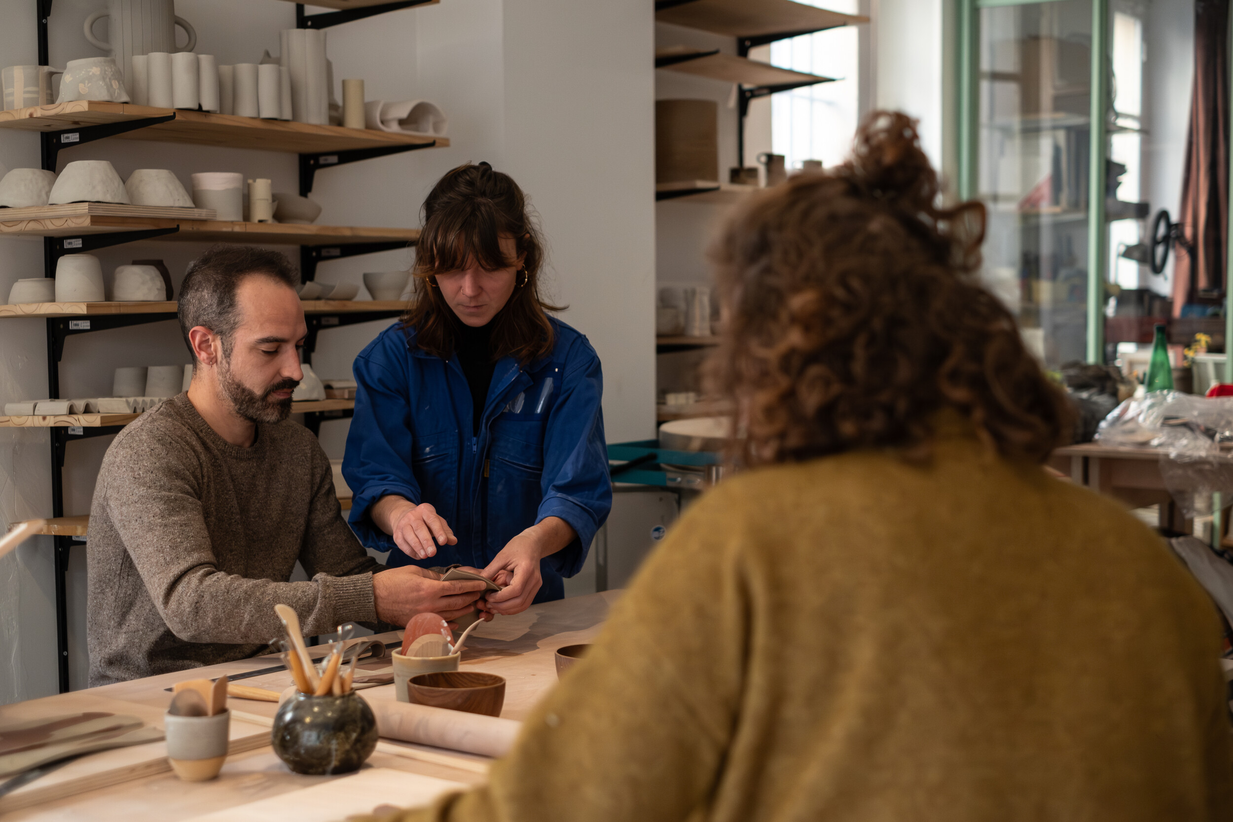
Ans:
[{"label": "mustard yellow sweater on person seen from behind", "polygon": [[975,439],[698,502],[486,787],[407,822],[1228,822],[1218,624],[1118,505]]}]

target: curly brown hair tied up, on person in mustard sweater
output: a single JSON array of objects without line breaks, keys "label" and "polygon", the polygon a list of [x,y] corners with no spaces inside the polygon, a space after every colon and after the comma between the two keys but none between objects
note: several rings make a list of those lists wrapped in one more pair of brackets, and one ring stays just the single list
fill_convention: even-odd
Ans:
[{"label": "curly brown hair tied up, on person in mustard sweater", "polygon": [[711,248],[724,332],[708,362],[746,466],[853,449],[927,452],[937,413],[1043,462],[1071,412],[978,283],[985,208],[938,206],[916,121],[872,112],[851,159],[730,218]]}]

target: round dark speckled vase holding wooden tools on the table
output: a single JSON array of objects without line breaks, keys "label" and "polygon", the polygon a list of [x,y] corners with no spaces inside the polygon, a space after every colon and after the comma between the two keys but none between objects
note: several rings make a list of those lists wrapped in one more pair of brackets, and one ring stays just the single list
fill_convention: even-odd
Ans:
[{"label": "round dark speckled vase holding wooden tools on the table", "polygon": [[359,770],[377,747],[377,720],[363,698],[296,694],[274,717],[270,744],[297,774]]}]

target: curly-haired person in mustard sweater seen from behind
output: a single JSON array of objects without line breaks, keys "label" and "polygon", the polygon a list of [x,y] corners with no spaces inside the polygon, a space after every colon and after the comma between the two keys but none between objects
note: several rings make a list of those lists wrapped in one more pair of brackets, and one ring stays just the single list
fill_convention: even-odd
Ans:
[{"label": "curly-haired person in mustard sweater seen from behind", "polygon": [[1216,611],[1042,463],[1060,391],[915,123],[713,251],[742,471],[682,516],[490,783],[391,818],[1233,818]]}]

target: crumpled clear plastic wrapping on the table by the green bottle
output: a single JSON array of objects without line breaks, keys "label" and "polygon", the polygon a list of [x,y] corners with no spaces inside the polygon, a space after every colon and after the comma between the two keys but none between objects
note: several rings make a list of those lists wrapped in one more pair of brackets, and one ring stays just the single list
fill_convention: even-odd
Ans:
[{"label": "crumpled clear plastic wrapping on the table by the green bottle", "polygon": [[1187,518],[1233,503],[1233,398],[1154,392],[1127,399],[1101,421],[1101,445],[1152,447],[1160,474]]}]

